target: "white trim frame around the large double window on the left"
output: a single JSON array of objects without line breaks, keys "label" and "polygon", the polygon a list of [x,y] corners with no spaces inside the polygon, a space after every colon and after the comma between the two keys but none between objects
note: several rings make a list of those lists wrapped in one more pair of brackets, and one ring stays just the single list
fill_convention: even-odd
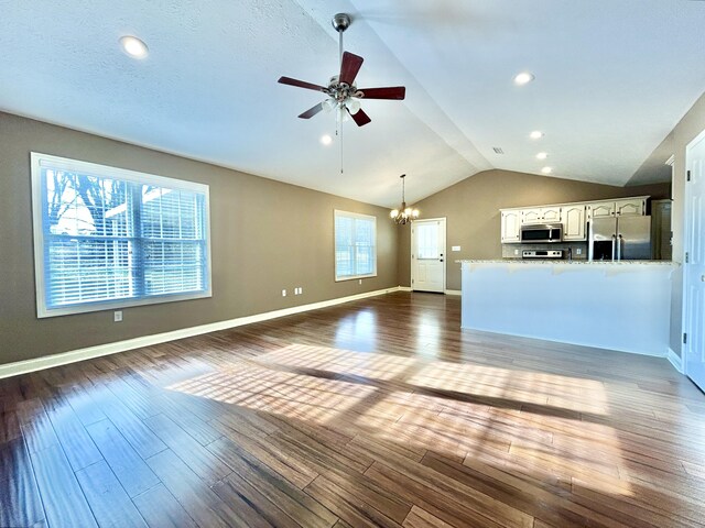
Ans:
[{"label": "white trim frame around the large double window on the left", "polygon": [[[95,175],[98,177],[116,178],[139,184],[154,185],[172,189],[192,190],[204,194],[205,207],[205,256],[206,256],[206,280],[207,286],[204,292],[186,293],[186,294],[164,294],[141,299],[119,299],[119,300],[97,300],[87,301],[77,305],[65,306],[62,308],[47,308],[46,306],[46,284],[44,282],[44,204],[42,196],[42,167],[61,166],[62,169],[77,172],[86,175]],[[181,300],[202,299],[213,297],[213,274],[212,274],[212,254],[210,254],[210,187],[206,184],[195,182],[186,182],[183,179],[169,178],[154,174],[130,170],[127,168],[110,167],[97,163],[83,162],[79,160],[70,160],[51,154],[41,154],[31,152],[31,183],[32,183],[32,234],[34,238],[34,280],[36,296],[36,317],[47,318],[57,316],[67,316],[73,314],[89,314],[93,311],[104,311],[112,309],[131,308],[144,305],[158,305],[162,302],[175,302]]]}]

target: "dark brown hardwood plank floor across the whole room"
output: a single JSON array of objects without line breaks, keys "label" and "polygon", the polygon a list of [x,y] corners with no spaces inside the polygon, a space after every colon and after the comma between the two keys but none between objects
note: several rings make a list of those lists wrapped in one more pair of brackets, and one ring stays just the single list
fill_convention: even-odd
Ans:
[{"label": "dark brown hardwood plank floor across the whole room", "polygon": [[397,293],[0,381],[0,526],[705,526],[663,359]]}]

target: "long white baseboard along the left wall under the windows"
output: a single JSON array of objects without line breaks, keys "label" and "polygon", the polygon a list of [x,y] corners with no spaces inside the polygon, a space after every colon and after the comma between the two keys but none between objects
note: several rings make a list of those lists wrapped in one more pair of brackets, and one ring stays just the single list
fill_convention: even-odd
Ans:
[{"label": "long white baseboard along the left wall under the windows", "polygon": [[[411,288],[409,290],[411,290]],[[238,317],[237,319],[229,319],[227,321],[212,322],[208,324],[200,324],[198,327],[182,328],[180,330],[173,330],[171,332],[155,333],[153,336],[127,339],[124,341],[117,341],[115,343],[98,344],[96,346],[72,350],[69,352],[46,355],[44,358],[8,363],[4,365],[0,365],[0,380],[2,380],[3,377],[17,376],[19,374],[26,374],[44,369],[51,369],[53,366],[76,363],[77,361],[90,360],[93,358],[116,354],[118,352],[126,352],[128,350],[139,349],[142,346],[151,346],[153,344],[165,343],[167,341],[175,341],[177,339],[192,338],[194,336],[200,336],[203,333],[217,332],[218,330],[227,330],[228,328],[241,327],[243,324],[251,324],[253,322],[268,321],[270,319],[292,316],[294,314],[301,314],[303,311],[317,310],[319,308],[341,305],[344,302],[350,302],[352,300],[391,294],[392,292],[405,292],[405,289],[401,286],[377,289],[375,292],[367,292],[365,294],[338,297],[337,299],[293,306],[291,308],[283,308],[281,310],[267,311],[264,314],[256,314],[253,316]]]}]

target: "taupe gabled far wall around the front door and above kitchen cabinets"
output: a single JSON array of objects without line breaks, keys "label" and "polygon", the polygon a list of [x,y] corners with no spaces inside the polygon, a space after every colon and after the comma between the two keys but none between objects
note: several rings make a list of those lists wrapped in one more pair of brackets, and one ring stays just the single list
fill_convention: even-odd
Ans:
[{"label": "taupe gabled far wall around the front door and above kitchen cabinets", "polygon": [[[446,217],[447,249],[462,248],[458,253],[448,253],[446,260],[446,287],[457,290],[460,289],[460,266],[455,264],[456,260],[502,257],[499,209],[641,195],[669,198],[670,185],[612,187],[509,170],[486,170],[414,204],[414,207],[420,209],[422,218]],[[410,228],[405,226],[399,230],[399,284],[409,286]]]}]

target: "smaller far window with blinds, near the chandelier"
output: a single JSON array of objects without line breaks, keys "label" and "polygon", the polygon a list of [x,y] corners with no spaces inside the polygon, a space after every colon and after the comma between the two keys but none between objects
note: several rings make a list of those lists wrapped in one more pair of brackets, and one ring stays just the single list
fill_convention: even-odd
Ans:
[{"label": "smaller far window with blinds, near the chandelier", "polygon": [[335,211],[335,279],[377,275],[377,218]]}]

